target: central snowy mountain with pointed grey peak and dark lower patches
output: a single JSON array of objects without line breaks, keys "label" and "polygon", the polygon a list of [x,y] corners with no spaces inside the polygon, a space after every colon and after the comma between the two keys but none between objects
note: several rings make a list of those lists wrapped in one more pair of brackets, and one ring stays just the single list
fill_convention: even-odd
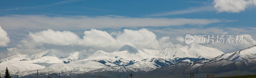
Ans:
[{"label": "central snowy mountain with pointed grey peak and dark lower patches", "polygon": [[140,62],[143,59],[153,58],[130,45],[124,45],[113,53],[96,51],[85,60],[97,61],[107,66],[128,66],[135,62]]}]

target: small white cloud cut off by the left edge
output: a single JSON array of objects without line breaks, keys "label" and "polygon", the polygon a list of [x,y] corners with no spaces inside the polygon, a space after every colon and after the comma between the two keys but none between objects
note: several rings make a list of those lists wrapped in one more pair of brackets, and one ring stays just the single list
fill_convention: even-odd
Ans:
[{"label": "small white cloud cut off by the left edge", "polygon": [[10,42],[9,36],[7,36],[7,32],[2,29],[0,26],[0,47],[8,46],[7,44]]}]

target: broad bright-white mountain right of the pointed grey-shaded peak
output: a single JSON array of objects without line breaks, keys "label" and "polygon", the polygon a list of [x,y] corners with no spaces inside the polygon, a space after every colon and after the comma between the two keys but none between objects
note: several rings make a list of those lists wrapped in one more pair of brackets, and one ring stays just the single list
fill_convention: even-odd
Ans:
[{"label": "broad bright-white mountain right of the pointed grey-shaded peak", "polygon": [[224,54],[218,49],[205,47],[196,43],[191,43],[183,48],[167,48],[167,49],[161,49],[161,50],[150,50],[150,49],[142,49],[143,52],[145,52],[148,55],[157,56],[160,58],[213,58],[216,56],[219,56],[221,54]]}]

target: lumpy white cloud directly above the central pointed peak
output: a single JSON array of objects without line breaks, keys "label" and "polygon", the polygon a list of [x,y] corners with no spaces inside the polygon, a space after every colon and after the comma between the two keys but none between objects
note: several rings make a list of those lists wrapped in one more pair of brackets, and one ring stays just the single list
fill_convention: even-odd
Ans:
[{"label": "lumpy white cloud directly above the central pointed peak", "polygon": [[124,29],[124,32],[119,32],[116,37],[111,36],[106,31],[91,29],[90,31],[84,31],[83,40],[78,45],[118,49],[125,44],[129,44],[137,48],[162,49],[163,47],[173,47],[169,39],[169,37],[162,37],[157,40],[156,35],[147,29]]}]

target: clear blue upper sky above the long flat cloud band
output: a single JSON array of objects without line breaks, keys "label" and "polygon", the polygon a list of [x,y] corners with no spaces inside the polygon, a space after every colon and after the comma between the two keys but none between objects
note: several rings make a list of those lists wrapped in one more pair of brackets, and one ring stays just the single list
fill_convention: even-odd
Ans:
[{"label": "clear blue upper sky above the long flat cloud band", "polygon": [[[188,10],[193,8],[212,7],[213,1],[205,0],[74,0],[66,3],[59,3],[66,0],[7,0],[0,1],[0,15],[46,15],[46,16],[129,16],[129,17],[149,17],[150,15],[164,12],[173,12],[179,10]],[[54,4],[56,3],[56,4]],[[58,4],[59,3],[59,4]],[[240,13],[217,13],[216,10],[203,11],[188,14],[177,14],[169,16],[155,16],[168,18],[212,18],[239,20],[235,23],[229,23],[230,27],[239,27],[246,25],[253,27],[255,25],[255,7],[247,8]],[[152,16],[151,16],[152,17]]]}]

